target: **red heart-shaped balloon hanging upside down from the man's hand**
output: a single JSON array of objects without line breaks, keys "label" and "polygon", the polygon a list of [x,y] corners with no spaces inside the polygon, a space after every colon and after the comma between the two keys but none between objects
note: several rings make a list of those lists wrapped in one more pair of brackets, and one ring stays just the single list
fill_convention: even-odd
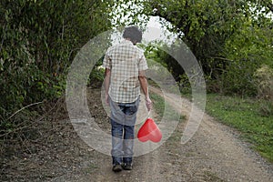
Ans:
[{"label": "red heart-shaped balloon hanging upside down from the man's hand", "polygon": [[141,142],[146,142],[147,140],[159,142],[162,138],[162,133],[155,121],[148,117],[143,126],[139,128],[137,138]]}]

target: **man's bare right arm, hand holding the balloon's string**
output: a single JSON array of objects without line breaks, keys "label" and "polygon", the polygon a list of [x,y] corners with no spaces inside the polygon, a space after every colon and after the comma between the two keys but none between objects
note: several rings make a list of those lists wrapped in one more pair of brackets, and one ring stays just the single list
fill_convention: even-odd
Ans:
[{"label": "man's bare right arm, hand holding the balloon's string", "polygon": [[152,108],[152,101],[149,96],[148,84],[147,84],[147,78],[145,75],[145,71],[138,72],[138,79],[139,79],[140,86],[143,90],[143,93],[145,95],[147,110],[150,111]]}]

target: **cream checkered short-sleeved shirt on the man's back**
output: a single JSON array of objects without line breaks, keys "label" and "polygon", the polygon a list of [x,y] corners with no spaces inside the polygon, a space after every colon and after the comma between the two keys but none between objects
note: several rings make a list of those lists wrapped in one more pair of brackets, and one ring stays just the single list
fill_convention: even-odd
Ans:
[{"label": "cream checkered short-sleeved shirt on the man's back", "polygon": [[108,48],[103,61],[111,69],[109,96],[117,103],[133,103],[140,95],[138,71],[147,69],[144,51],[124,40]]}]

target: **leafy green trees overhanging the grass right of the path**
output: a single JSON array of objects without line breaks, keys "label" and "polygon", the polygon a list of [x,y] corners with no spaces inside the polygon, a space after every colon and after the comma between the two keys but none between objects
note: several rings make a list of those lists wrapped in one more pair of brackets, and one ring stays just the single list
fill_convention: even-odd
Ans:
[{"label": "leafy green trees overhanging the grass right of the path", "polygon": [[139,14],[157,15],[170,23],[168,29],[190,47],[215,91],[255,94],[253,74],[260,65],[269,64],[272,55],[268,1],[134,2],[145,7]]}]

